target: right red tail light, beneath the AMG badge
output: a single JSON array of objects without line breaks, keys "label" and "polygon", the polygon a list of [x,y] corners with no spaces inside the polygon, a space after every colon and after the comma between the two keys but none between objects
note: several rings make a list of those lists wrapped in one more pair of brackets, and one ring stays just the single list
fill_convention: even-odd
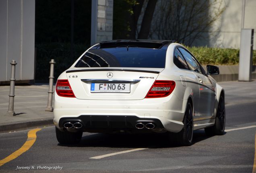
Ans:
[{"label": "right red tail light, beneath the AMG badge", "polygon": [[167,97],[175,88],[172,80],[156,80],[145,98]]}]

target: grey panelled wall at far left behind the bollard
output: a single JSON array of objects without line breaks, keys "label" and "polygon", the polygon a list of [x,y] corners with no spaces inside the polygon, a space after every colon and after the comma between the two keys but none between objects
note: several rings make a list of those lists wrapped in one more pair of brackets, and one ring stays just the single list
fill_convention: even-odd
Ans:
[{"label": "grey panelled wall at far left behind the bollard", "polygon": [[10,79],[16,60],[16,80],[34,79],[35,0],[0,0],[0,82]]}]

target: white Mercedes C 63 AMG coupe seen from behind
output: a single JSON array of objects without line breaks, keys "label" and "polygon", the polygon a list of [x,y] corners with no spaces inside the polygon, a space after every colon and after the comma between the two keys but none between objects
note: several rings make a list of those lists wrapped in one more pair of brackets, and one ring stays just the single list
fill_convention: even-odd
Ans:
[{"label": "white Mercedes C 63 AMG coupe seen from behind", "polygon": [[56,82],[54,124],[60,144],[91,133],[167,133],[191,145],[193,131],[223,135],[225,94],[181,44],[112,40],[86,50]]}]

